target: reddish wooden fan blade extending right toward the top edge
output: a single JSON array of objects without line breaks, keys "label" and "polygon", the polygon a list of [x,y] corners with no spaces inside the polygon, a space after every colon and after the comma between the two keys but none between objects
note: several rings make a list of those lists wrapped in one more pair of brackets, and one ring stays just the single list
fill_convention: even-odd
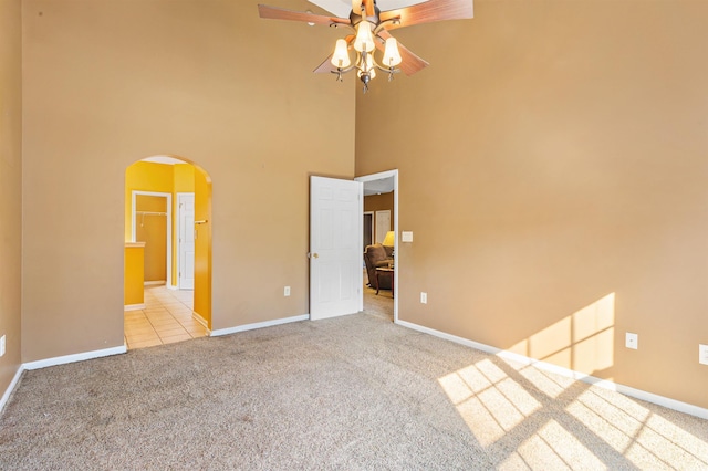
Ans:
[{"label": "reddish wooden fan blade extending right toward the top edge", "polygon": [[396,17],[400,17],[400,23],[387,25],[386,29],[393,30],[435,21],[470,19],[475,18],[475,8],[472,0],[429,0],[413,7],[382,11],[381,21]]}]

